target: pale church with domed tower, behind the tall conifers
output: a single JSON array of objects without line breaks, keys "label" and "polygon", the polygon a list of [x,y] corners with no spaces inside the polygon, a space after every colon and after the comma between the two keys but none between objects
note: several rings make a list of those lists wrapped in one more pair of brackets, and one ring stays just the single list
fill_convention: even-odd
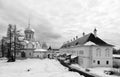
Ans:
[{"label": "pale church with domed tower, behind the tall conifers", "polygon": [[24,30],[24,37],[21,40],[24,48],[21,49],[21,52],[17,54],[18,57],[39,58],[41,57],[41,54],[43,56],[47,52],[47,44],[45,42],[40,43],[39,41],[36,41],[34,34],[35,30],[32,29],[30,25],[28,25],[28,27]]}]

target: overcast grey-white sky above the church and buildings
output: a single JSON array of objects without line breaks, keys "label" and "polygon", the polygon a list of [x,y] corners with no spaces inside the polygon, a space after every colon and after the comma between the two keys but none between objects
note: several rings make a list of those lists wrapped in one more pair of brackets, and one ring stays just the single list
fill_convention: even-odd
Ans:
[{"label": "overcast grey-white sky above the church and buildings", "polygon": [[8,24],[35,29],[39,41],[59,47],[76,35],[93,32],[120,48],[120,0],[0,0],[0,37]]}]

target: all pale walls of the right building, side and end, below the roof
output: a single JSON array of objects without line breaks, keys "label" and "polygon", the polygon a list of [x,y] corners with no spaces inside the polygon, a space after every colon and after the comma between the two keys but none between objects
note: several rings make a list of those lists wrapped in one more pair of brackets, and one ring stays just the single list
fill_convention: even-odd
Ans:
[{"label": "all pale walls of the right building, side and end, below the roof", "polygon": [[[97,56],[96,49],[101,49],[101,55]],[[109,56],[106,56],[106,49],[109,49]],[[83,54],[81,54],[83,51]],[[71,47],[71,48],[63,48],[60,49],[60,53],[69,53],[72,55],[79,56],[79,60],[83,59],[83,67],[112,67],[112,52],[113,48],[110,46],[79,46],[79,47]],[[93,62],[95,60],[95,62]],[[100,61],[100,64],[97,63]],[[109,64],[106,64],[106,61],[109,61]],[[80,61],[79,61],[80,64]],[[81,64],[80,64],[81,65]]]}]

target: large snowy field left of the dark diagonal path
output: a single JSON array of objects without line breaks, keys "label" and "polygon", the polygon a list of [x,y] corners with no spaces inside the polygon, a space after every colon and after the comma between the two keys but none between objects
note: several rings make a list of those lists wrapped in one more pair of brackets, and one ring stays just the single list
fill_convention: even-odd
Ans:
[{"label": "large snowy field left of the dark diagonal path", "polygon": [[7,63],[0,60],[0,77],[84,77],[70,72],[56,60],[26,59]]}]

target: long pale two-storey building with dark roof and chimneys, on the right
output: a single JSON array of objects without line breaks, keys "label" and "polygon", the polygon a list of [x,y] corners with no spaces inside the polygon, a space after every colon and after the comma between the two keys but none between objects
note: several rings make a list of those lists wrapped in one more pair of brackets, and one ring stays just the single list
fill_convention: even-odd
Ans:
[{"label": "long pale two-storey building with dark roof and chimneys, on the right", "polygon": [[113,45],[110,45],[96,35],[97,30],[72,42],[63,44],[61,54],[71,54],[78,57],[78,64],[85,68],[112,67]]}]

